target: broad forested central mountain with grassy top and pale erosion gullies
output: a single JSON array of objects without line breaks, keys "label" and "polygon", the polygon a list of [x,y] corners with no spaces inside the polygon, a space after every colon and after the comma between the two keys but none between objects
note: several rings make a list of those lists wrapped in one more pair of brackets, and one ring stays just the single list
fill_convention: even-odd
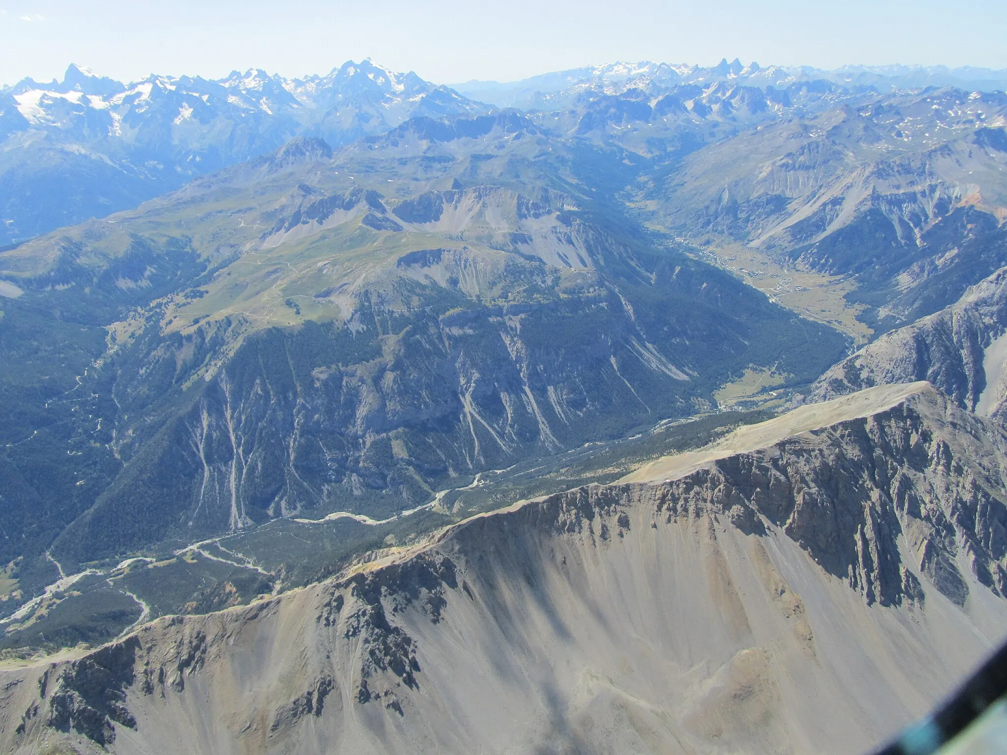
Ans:
[{"label": "broad forested central mountain with grassy top and pale erosion gullies", "polygon": [[73,569],[276,517],[381,519],[711,408],[749,365],[801,384],[841,354],[578,179],[612,164],[515,114],[415,119],[0,253],[23,291],[8,342],[107,332],[53,353],[57,381],[11,376],[7,558]]}]

